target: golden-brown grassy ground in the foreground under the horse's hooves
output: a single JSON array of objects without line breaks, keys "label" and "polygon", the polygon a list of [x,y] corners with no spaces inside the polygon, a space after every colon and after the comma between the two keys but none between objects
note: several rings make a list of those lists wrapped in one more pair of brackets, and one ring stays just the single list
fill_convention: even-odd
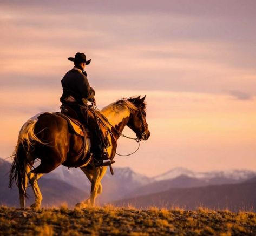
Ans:
[{"label": "golden-brown grassy ground in the foreground under the horse's hooves", "polygon": [[149,208],[0,207],[0,235],[256,235],[256,213]]}]

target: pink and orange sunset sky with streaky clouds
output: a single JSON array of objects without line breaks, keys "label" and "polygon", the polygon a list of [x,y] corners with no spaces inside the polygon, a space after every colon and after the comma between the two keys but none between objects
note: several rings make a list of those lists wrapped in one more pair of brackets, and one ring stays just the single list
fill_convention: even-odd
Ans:
[{"label": "pink and orange sunset sky with streaky clouds", "polygon": [[84,52],[100,108],[147,95],[151,137],[116,167],[256,171],[255,25],[254,0],[1,0],[0,157],[28,118],[59,110],[67,58]]}]

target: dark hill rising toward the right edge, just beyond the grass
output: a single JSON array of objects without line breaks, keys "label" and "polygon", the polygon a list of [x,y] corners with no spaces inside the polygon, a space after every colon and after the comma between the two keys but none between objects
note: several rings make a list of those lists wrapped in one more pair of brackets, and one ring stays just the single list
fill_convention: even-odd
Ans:
[{"label": "dark hill rising toward the right edge, just beyond the grass", "polygon": [[115,201],[115,206],[147,208],[182,207],[194,210],[198,207],[211,209],[256,210],[256,181],[240,184],[212,185],[193,188],[173,188],[168,191]]}]

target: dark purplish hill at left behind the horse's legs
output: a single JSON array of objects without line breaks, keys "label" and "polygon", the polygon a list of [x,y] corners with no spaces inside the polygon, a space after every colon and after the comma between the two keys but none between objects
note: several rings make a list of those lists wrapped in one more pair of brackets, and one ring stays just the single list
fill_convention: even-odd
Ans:
[{"label": "dark purplish hill at left behind the horse's legs", "polygon": [[[8,188],[9,170],[11,164],[0,158],[0,205],[19,206],[18,189],[16,185],[13,189]],[[40,188],[43,195],[42,206],[59,206],[67,203],[74,207],[79,201],[86,199],[89,191],[82,191],[73,187],[64,181],[57,179],[40,179]],[[27,206],[34,201],[34,193],[31,187],[28,188],[28,194],[31,196],[27,199]]]}]

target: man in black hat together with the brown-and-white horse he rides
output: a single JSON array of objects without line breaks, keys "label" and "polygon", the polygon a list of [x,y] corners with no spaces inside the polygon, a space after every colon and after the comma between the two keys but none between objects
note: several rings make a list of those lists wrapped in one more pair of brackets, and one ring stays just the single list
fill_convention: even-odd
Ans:
[{"label": "man in black hat together with the brown-and-white horse he rides", "polygon": [[[62,112],[71,114],[70,119],[73,117],[74,120],[76,117],[86,124],[91,131],[89,134],[91,142],[85,137],[88,132],[84,132],[84,128],[83,132],[80,132],[83,135],[70,132],[67,117],[59,112],[41,112],[28,119],[19,131],[9,178],[9,187],[12,187],[14,182],[18,186],[21,208],[25,207],[28,183],[35,195],[31,207],[40,208],[43,197],[38,179],[60,165],[80,167],[91,182],[90,197],[77,203],[76,207],[83,208],[88,204],[94,206],[97,195],[102,193],[101,180],[107,171],[107,164],[110,165],[111,171],[117,139],[120,136],[127,137],[122,134],[124,127],[129,127],[136,134],[136,138],[131,139],[138,142],[147,140],[150,136],[146,122],[146,96],[123,98],[97,112],[87,105],[87,100],[95,103],[95,91],[90,87],[83,72],[90,60],[86,60],[84,53],[76,53],[75,58],[68,59],[74,61],[75,67],[62,79]],[[74,120],[74,123],[77,122]],[[104,134],[103,138],[100,131]],[[90,150],[94,158],[91,163],[85,164],[81,153],[87,153],[84,147],[88,147],[89,143],[92,144]],[[37,158],[40,164],[34,168]],[[107,158],[110,159],[108,163],[103,163],[103,159]]]}]

